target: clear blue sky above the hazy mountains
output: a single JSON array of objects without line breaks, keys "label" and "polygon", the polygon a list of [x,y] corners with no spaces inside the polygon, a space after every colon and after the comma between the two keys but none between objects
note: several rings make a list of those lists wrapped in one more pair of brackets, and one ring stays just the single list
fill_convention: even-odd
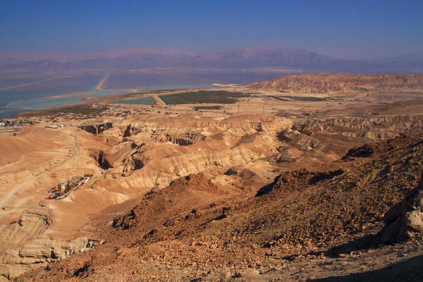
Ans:
[{"label": "clear blue sky above the hazy mountains", "polygon": [[3,0],[0,51],[298,47],[347,59],[423,51],[422,0]]}]

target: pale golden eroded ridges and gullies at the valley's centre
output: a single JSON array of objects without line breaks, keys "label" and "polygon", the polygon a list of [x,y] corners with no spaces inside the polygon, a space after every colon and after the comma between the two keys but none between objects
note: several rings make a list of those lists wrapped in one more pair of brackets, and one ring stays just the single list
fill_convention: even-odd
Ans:
[{"label": "pale golden eroded ridges and gullies at the valley's centre", "polygon": [[277,133],[291,125],[286,118],[263,116],[121,121],[101,134],[114,147],[102,153],[106,179],[97,183],[135,194],[191,173],[254,163],[277,152]]}]

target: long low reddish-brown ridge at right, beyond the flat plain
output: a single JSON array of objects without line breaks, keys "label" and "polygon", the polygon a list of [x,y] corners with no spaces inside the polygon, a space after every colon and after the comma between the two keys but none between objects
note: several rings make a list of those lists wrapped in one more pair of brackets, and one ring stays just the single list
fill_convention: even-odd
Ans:
[{"label": "long low reddish-brown ridge at right, beyond the flat plain", "polygon": [[293,93],[422,91],[423,74],[310,73],[255,82],[248,87]]}]

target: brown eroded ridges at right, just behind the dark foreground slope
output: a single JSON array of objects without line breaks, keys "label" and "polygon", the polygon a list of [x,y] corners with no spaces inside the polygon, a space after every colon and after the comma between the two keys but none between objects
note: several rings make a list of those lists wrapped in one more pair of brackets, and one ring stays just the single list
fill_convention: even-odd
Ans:
[{"label": "brown eroded ridges at right, just behind the dark foreground slope", "polygon": [[340,159],[353,146],[423,133],[423,116],[381,118],[314,118],[296,121],[278,133],[276,164],[293,164]]}]

